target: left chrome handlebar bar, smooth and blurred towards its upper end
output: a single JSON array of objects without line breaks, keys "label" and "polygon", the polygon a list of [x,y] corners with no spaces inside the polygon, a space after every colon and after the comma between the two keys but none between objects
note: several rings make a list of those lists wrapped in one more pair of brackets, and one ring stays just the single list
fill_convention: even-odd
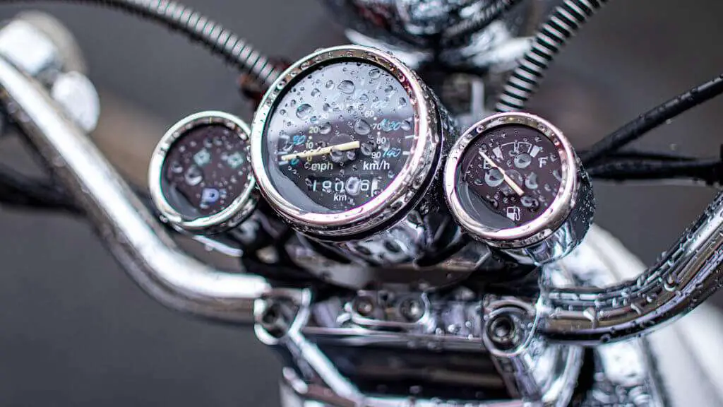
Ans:
[{"label": "left chrome handlebar bar, smooth and blurred towards its upper end", "polygon": [[138,285],[173,309],[250,322],[254,300],[270,290],[264,279],[221,272],[179,251],[87,135],[37,81],[3,58],[0,99]]}]

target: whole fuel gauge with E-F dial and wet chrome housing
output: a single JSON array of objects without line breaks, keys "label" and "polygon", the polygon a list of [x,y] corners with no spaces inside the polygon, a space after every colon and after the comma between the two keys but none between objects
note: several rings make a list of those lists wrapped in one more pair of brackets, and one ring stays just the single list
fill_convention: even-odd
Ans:
[{"label": "whole fuel gauge with E-F dial and wet chrome housing", "polygon": [[494,114],[457,140],[445,198],[469,234],[542,264],[583,239],[594,212],[589,176],[562,132],[532,114]]}]

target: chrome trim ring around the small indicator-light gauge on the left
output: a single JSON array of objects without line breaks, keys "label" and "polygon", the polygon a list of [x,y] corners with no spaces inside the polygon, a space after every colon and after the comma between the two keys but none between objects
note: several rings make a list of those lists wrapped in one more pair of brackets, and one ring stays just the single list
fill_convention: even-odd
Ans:
[{"label": "chrome trim ring around the small indicator-light gauge on the left", "polygon": [[256,180],[253,174],[249,174],[246,187],[228,207],[207,217],[186,220],[168,203],[166,196],[163,195],[161,175],[163,172],[163,160],[166,158],[168,150],[181,135],[184,135],[189,130],[200,125],[211,124],[221,124],[234,131],[234,133],[246,143],[246,154],[247,157],[250,157],[248,140],[251,130],[249,126],[233,114],[206,111],[191,114],[176,122],[176,124],[163,135],[158,145],[155,146],[153,156],[151,156],[150,159],[148,189],[150,190],[150,197],[153,199],[153,204],[155,204],[155,207],[161,212],[163,218],[165,218],[163,220],[181,230],[203,232],[205,234],[228,230],[247,219],[256,208],[258,201],[258,193],[255,190]]}]

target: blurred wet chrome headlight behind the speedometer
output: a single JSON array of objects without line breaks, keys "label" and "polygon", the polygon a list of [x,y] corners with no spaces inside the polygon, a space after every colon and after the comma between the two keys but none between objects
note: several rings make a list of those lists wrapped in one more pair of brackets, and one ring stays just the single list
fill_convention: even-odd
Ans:
[{"label": "blurred wet chrome headlight behind the speedometer", "polygon": [[[325,0],[350,41],[407,56],[414,67],[434,58],[452,66],[489,67],[476,56],[529,35],[547,0],[521,1],[487,26],[469,30],[497,0]],[[507,3],[513,3],[506,1]],[[440,46],[440,41],[443,46]]]}]

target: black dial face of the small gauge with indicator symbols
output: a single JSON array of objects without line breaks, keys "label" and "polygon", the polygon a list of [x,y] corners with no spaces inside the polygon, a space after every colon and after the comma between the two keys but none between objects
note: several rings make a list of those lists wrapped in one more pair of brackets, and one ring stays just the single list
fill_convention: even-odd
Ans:
[{"label": "black dial face of the small gauge with indicator symbols", "polygon": [[184,220],[226,209],[251,182],[248,143],[225,125],[187,130],[168,148],[161,168],[163,196]]}]

